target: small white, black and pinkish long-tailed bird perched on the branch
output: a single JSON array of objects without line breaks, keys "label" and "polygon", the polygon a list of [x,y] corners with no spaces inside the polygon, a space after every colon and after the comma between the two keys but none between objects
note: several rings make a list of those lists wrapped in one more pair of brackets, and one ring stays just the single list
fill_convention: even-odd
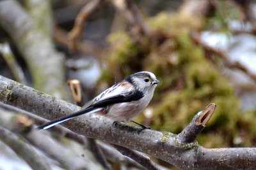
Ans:
[{"label": "small white, black and pinkish long-tailed bird perched on the branch", "polygon": [[[131,74],[109,89],[104,90],[92,101],[84,104],[81,110],[66,117],[52,120],[37,127],[37,129],[48,129],[85,113],[99,113],[115,120],[114,123],[125,120],[134,122],[131,118],[141,113],[148,106],[158,83],[159,80],[156,79],[155,74],[149,71]],[[143,124],[134,123],[140,125],[143,129],[148,128]]]}]

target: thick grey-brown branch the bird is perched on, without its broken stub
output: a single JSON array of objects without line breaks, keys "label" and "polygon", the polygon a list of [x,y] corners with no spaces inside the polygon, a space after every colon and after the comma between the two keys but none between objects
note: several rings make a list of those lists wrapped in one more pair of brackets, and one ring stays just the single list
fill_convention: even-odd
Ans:
[{"label": "thick grey-brown branch the bird is perched on, without its broken stub", "polygon": [[[3,76],[0,76],[0,101],[51,120],[79,110],[73,104],[56,100]],[[233,169],[256,167],[256,148],[206,149],[198,145],[182,146],[176,144],[177,136],[168,132],[149,129],[140,132],[139,127],[125,124],[113,127],[112,124],[113,120],[109,118],[88,114],[63,125],[78,134],[147,153],[181,169],[228,169],[230,165]]]}]

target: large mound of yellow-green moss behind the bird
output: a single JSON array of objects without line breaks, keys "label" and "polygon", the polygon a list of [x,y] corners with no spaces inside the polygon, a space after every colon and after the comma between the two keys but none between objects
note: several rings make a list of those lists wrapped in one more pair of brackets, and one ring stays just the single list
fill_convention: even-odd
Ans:
[{"label": "large mound of yellow-green moss behind the bird", "polygon": [[[152,129],[177,134],[198,111],[216,103],[216,111],[198,141],[207,147],[234,146],[232,141],[241,137],[241,128],[255,134],[255,112],[242,113],[235,90],[221,74],[220,67],[207,60],[204,50],[189,36],[191,31],[202,29],[202,18],[182,20],[184,16],[180,15],[160,13],[147,19],[157,34],[164,35],[161,43],[145,37],[135,43],[126,32],[109,36],[112,48],[101,82],[110,85],[115,81],[114,75],[122,80],[136,71],[152,71],[160,80],[150,103],[154,106]],[[143,123],[145,117],[141,114],[136,120]],[[253,136],[243,139],[239,146],[245,144],[252,146]]]}]

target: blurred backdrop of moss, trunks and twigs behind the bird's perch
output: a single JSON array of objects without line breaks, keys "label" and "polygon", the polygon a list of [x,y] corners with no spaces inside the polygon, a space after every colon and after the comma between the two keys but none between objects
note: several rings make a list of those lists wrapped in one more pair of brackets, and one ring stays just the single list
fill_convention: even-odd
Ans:
[{"label": "blurred backdrop of moss, trunks and twigs behind the bird's perch", "polygon": [[[72,102],[67,80],[80,80],[89,101],[129,74],[152,71],[160,83],[134,121],[177,134],[216,103],[198,143],[255,147],[256,1],[12,3],[0,2],[2,76]],[[0,169],[29,169],[8,145],[0,148]]]}]

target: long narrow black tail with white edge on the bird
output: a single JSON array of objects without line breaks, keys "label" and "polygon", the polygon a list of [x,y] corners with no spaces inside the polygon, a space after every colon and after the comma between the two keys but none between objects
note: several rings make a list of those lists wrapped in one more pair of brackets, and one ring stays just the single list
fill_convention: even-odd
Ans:
[{"label": "long narrow black tail with white edge on the bird", "polygon": [[90,108],[86,108],[84,110],[79,110],[79,111],[76,111],[75,113],[72,113],[71,115],[67,115],[65,117],[57,118],[55,120],[52,120],[51,122],[48,122],[47,124],[40,125],[36,129],[38,129],[38,130],[40,130],[40,129],[49,129],[50,127],[52,127],[54,125],[58,125],[58,124],[61,124],[62,122],[70,120],[70,118],[78,117],[79,115],[83,115],[83,114],[89,113],[91,111],[94,112],[94,111],[99,111],[99,110],[102,110],[102,108],[90,107]]}]

